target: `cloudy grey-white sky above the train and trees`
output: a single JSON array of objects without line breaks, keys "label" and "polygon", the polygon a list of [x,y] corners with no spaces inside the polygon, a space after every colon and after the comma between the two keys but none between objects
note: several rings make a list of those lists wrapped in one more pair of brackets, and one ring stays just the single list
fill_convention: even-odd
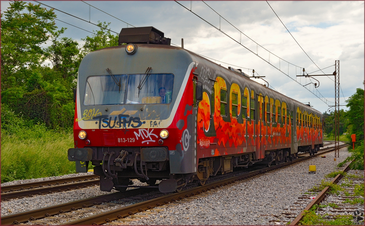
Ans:
[{"label": "cloudy grey-white sky above the train and trees", "polygon": [[[92,23],[110,22],[110,29],[116,33],[131,25],[153,26],[177,46],[184,38],[185,49],[224,67],[242,68],[250,76],[254,69],[255,75],[265,76],[270,88],[297,101],[310,102],[320,112],[334,109],[328,106],[334,102],[334,76],[316,76],[319,86],[315,88],[311,82],[318,82],[314,79],[296,77],[303,74],[303,67],[310,75],[332,74],[335,60],[339,60],[341,105],[356,88],[364,88],[364,1],[268,1],[270,5],[266,1],[178,1],[187,9],[175,1],[39,2],[87,20],[54,10],[57,19],[88,31],[98,30],[90,19]],[[1,1],[1,12],[8,6],[9,1]],[[57,20],[56,25],[67,27],[63,35],[80,45],[84,43],[81,38],[92,35]],[[321,72],[316,65],[328,68]],[[303,87],[306,84],[307,89]],[[346,106],[340,109],[346,110]]]}]

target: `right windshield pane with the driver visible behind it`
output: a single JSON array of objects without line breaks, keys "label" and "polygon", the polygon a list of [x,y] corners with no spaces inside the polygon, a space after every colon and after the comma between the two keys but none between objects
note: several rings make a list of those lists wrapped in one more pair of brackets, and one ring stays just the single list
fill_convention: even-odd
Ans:
[{"label": "right windshield pane with the driver visible behind it", "polygon": [[129,75],[126,104],[170,103],[173,81],[172,74]]}]

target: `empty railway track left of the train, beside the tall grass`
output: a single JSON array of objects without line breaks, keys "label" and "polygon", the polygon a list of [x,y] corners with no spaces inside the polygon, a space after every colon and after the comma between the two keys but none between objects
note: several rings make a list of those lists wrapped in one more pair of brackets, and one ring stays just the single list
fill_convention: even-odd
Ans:
[{"label": "empty railway track left of the train, beside the tall grass", "polygon": [[[99,184],[99,176],[88,175],[1,187],[1,201],[21,197],[32,197],[46,193],[62,192]],[[7,192],[6,192],[7,191]]]}]

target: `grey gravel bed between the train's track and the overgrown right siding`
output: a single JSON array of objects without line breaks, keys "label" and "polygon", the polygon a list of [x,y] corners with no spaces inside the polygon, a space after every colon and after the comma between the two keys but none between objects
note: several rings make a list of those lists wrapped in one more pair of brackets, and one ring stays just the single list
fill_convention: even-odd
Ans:
[{"label": "grey gravel bed between the train's track and the overgrown right siding", "polygon": [[[315,157],[295,165],[251,177],[232,186],[219,188],[207,197],[199,197],[178,206],[166,207],[129,225],[275,225],[272,215],[288,212],[299,196],[350,155],[347,148],[340,150],[334,161],[334,152],[326,158]],[[309,165],[316,165],[317,172],[309,174]],[[304,207],[306,205],[303,205]],[[303,208],[304,208],[303,207]],[[288,210],[287,210],[288,209]],[[289,211],[291,212],[291,211]],[[299,213],[299,212],[298,212]],[[293,215],[296,216],[296,215]]]}]

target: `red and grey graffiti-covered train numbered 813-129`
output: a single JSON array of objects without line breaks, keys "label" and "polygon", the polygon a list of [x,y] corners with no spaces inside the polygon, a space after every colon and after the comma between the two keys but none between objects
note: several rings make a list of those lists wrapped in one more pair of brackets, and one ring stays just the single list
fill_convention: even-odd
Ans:
[{"label": "red and grey graffiti-covered train numbered 813-129", "polygon": [[154,27],[123,28],[118,46],[88,53],[74,102],[68,159],[76,172],[91,163],[101,191],[125,191],[138,179],[179,192],[323,147],[318,110],[172,46]]}]

